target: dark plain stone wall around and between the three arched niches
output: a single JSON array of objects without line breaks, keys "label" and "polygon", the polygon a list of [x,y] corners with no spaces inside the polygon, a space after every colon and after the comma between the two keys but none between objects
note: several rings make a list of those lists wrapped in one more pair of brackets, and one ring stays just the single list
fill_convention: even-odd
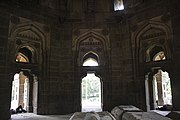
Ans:
[{"label": "dark plain stone wall around and between the three arched niches", "polygon": [[[173,104],[179,110],[179,1],[130,1],[124,2],[124,11],[113,11],[113,4],[106,0],[93,3],[79,0],[75,2],[57,2],[57,5],[47,1],[44,4],[36,1],[33,5],[11,2],[2,2],[0,15],[0,113],[4,119],[9,116],[11,73],[8,72],[7,50],[10,16],[25,18],[32,23],[38,23],[47,39],[40,45],[39,50],[43,57],[42,63],[28,66],[37,75],[38,79],[38,114],[67,114],[80,111],[80,82],[85,69],[78,66],[77,52],[73,47],[73,31],[82,29],[105,30],[105,38],[109,42],[104,52],[103,66],[95,69],[103,79],[103,106],[104,110],[111,110],[120,104],[132,104],[146,109],[145,103],[145,74],[144,63],[137,62],[136,45],[132,39],[132,32],[138,30],[138,25],[144,21],[152,20],[158,16],[170,13],[173,39],[170,43],[171,57],[169,71],[172,78]],[[95,1],[94,1],[95,2]],[[132,3],[131,3],[132,2]],[[134,6],[133,4],[136,3]],[[64,4],[66,6],[64,6]],[[97,7],[98,5],[98,7]],[[74,8],[74,9],[71,9]],[[77,8],[77,9],[75,9]],[[175,9],[177,8],[177,9]],[[44,26],[44,27],[43,27]],[[108,33],[106,33],[108,32]],[[12,52],[11,52],[12,53]],[[8,60],[9,64],[9,60]],[[18,68],[21,68],[19,66]],[[24,66],[27,67],[27,66]],[[94,70],[94,69],[93,69]],[[13,76],[13,74],[11,75]],[[2,116],[0,114],[0,116]]]}]

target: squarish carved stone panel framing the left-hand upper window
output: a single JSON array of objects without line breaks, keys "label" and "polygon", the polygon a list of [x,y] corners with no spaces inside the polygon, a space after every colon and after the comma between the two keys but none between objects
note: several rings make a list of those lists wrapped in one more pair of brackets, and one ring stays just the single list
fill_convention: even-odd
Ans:
[{"label": "squarish carved stone panel framing the left-hand upper window", "polygon": [[[43,57],[46,57],[46,59],[48,58],[48,54],[47,56],[41,54],[43,51],[49,49],[50,32],[48,26],[27,18],[16,17],[15,15],[11,15],[10,17],[18,19],[15,20],[15,22],[10,20],[9,24],[9,62],[14,60],[14,55],[19,48],[30,47],[34,51],[32,52],[32,62],[42,63]],[[43,67],[45,68],[46,66],[48,65],[44,63]]]}]

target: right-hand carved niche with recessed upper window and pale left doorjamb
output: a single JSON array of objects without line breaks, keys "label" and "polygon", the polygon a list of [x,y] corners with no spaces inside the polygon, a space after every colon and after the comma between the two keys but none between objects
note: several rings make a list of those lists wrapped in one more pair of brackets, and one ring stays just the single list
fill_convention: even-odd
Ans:
[{"label": "right-hand carved niche with recessed upper window and pale left doorjamb", "polygon": [[[134,58],[134,72],[135,80],[141,81],[145,87],[141,88],[144,91],[144,95],[151,96],[142,99],[146,103],[147,107],[144,109],[154,109],[155,100],[153,100],[153,88],[152,88],[152,68],[161,67],[167,68],[171,71],[171,53],[172,53],[172,30],[171,24],[167,24],[161,21],[161,17],[152,18],[139,22],[132,27],[132,48]],[[161,61],[153,61],[153,58],[157,53],[163,51],[166,59]],[[147,73],[150,73],[147,75]],[[151,80],[150,80],[151,79]],[[149,81],[148,81],[149,80]],[[151,85],[150,85],[151,84]],[[147,87],[148,86],[148,87]],[[149,103],[149,104],[148,104]]]}]

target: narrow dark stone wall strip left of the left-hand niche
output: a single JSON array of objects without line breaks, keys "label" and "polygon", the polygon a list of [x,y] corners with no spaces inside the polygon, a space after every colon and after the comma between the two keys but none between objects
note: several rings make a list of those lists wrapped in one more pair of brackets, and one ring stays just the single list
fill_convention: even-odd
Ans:
[{"label": "narrow dark stone wall strip left of the left-hand niche", "polygon": [[[10,93],[11,93],[11,81],[7,80],[7,38],[8,38],[8,27],[9,27],[9,14],[4,12],[3,9],[0,10],[0,116],[4,119],[9,118],[9,107],[10,107]],[[10,74],[8,74],[10,75]]]}]

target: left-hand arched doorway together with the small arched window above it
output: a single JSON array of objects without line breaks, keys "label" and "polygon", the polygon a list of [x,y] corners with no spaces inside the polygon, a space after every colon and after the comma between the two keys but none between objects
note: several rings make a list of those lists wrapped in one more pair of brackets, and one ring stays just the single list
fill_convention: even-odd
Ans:
[{"label": "left-hand arched doorway together with the small arched window above it", "polygon": [[[37,113],[37,93],[38,82],[35,74],[32,74],[32,69],[29,66],[34,62],[33,49],[30,46],[20,47],[14,59],[15,74],[11,78],[11,112],[16,110],[19,106],[26,112]],[[24,112],[24,111],[19,111]]]}]

